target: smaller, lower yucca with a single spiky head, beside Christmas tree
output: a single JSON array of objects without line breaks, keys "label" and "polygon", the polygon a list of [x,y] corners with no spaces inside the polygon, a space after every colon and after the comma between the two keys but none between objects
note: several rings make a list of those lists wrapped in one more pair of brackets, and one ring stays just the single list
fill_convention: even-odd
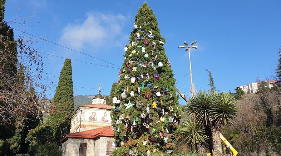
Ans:
[{"label": "smaller, lower yucca with a single spiky head, beside Christmas tree", "polygon": [[185,121],[180,127],[180,134],[183,142],[192,145],[195,144],[195,149],[198,153],[204,154],[202,143],[205,143],[209,138],[207,131],[200,124],[194,124],[193,120],[189,119]]}]

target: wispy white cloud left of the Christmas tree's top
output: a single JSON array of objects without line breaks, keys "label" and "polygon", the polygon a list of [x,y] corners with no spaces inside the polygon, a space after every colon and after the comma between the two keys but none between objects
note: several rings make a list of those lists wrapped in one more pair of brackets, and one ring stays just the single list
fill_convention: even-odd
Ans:
[{"label": "wispy white cloud left of the Christmas tree's top", "polygon": [[117,37],[123,37],[122,29],[126,17],[123,15],[92,12],[86,14],[83,23],[69,23],[62,30],[59,42],[65,46],[80,50],[83,46],[118,46]]}]

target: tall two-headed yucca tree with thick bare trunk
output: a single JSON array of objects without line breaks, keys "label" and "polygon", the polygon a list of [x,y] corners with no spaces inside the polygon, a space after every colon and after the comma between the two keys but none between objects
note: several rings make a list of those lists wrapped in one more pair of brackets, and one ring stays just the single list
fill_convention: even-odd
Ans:
[{"label": "tall two-headed yucca tree with thick bare trunk", "polygon": [[213,155],[222,155],[220,129],[222,125],[232,124],[238,108],[231,93],[210,93],[199,91],[190,99],[186,109],[195,114],[196,123],[211,129]]}]

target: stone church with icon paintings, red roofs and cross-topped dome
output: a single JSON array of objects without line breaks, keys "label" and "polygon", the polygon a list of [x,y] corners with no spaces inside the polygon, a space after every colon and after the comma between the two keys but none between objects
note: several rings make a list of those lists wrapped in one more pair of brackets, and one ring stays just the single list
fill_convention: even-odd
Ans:
[{"label": "stone church with icon paintings, red roofs and cross-topped dome", "polygon": [[[99,84],[101,87],[101,84]],[[62,139],[63,156],[105,156],[114,149],[111,105],[99,93],[92,103],[80,105],[71,117],[70,133]]]}]

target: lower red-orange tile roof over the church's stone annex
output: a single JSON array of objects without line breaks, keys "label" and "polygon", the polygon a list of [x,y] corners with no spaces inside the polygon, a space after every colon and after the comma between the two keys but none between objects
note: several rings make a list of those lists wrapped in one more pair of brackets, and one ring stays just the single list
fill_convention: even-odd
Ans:
[{"label": "lower red-orange tile roof over the church's stone annex", "polygon": [[95,139],[97,137],[114,137],[114,133],[111,130],[111,126],[102,127],[98,129],[85,130],[82,132],[66,134],[66,138],[85,138],[85,139]]}]

